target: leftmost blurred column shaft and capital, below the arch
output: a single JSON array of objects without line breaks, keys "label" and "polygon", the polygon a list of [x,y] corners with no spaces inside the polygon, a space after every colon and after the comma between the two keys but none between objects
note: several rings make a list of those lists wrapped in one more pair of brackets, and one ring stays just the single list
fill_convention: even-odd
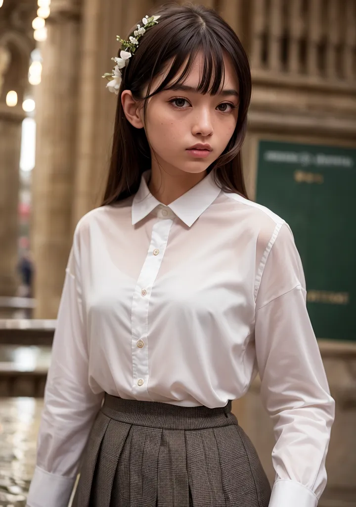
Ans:
[{"label": "leftmost blurred column shaft and capital, below the arch", "polygon": [[15,296],[18,278],[18,197],[21,123],[20,105],[0,105],[0,296]]}]

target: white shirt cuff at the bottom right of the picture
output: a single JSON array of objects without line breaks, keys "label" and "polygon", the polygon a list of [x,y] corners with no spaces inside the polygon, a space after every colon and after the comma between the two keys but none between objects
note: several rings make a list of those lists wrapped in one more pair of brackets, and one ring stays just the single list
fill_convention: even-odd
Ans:
[{"label": "white shirt cuff at the bottom right of the picture", "polygon": [[275,481],[269,507],[317,507],[318,497],[299,482],[286,479]]}]

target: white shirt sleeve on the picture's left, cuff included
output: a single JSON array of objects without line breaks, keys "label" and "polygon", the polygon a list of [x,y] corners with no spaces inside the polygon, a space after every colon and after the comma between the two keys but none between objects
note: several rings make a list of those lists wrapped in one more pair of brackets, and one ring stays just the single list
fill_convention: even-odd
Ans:
[{"label": "white shirt sleeve on the picture's left, cuff included", "polygon": [[27,498],[29,507],[67,507],[103,398],[89,385],[78,257],[74,235],[47,377],[37,462]]}]

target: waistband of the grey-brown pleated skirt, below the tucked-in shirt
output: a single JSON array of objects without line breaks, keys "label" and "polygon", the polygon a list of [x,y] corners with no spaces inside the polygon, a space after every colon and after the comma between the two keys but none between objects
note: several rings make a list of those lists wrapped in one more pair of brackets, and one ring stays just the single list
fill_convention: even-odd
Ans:
[{"label": "waistband of the grey-brown pleated skirt, below the tucked-in shirt", "polygon": [[231,401],[225,407],[181,407],[161,402],[124,400],[105,394],[101,412],[115,421],[163,429],[204,429],[237,424]]}]

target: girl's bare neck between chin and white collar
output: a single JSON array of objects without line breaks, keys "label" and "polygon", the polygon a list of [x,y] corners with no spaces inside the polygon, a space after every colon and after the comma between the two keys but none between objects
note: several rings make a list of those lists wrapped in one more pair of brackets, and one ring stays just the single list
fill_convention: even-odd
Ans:
[{"label": "girl's bare neck between chin and white collar", "polygon": [[152,167],[148,189],[157,201],[168,206],[201,182],[206,175],[207,171],[190,173],[170,169],[166,172],[160,167]]}]

